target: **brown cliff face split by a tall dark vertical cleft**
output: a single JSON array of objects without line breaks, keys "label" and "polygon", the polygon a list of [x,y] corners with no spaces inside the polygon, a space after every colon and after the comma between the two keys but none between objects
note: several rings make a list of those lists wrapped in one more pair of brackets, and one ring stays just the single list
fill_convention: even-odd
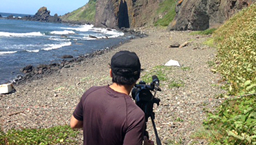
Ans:
[{"label": "brown cliff face split by a tall dark vertical cleft", "polygon": [[158,0],[98,0],[95,26],[134,28],[153,23]]}]

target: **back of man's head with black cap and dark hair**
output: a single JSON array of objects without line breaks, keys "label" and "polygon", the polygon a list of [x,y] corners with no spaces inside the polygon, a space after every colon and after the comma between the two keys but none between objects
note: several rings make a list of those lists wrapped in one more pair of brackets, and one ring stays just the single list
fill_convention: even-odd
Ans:
[{"label": "back of man's head with black cap and dark hair", "polygon": [[135,52],[120,51],[111,58],[113,83],[133,85],[140,78],[140,59]]}]

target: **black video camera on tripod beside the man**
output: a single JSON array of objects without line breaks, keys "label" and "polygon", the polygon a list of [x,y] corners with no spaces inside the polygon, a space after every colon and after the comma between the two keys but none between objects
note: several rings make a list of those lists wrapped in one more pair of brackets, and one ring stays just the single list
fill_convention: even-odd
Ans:
[{"label": "black video camera on tripod beside the man", "polygon": [[[151,91],[154,92],[154,95],[152,95]],[[156,125],[154,123],[155,113],[153,112],[154,104],[157,104],[157,106],[159,106],[159,102],[161,101],[159,98],[155,97],[157,91],[161,91],[161,88],[159,88],[158,77],[156,77],[156,75],[153,75],[152,83],[150,83],[149,85],[147,85],[145,81],[140,81],[139,84],[136,84],[131,90],[131,97],[135,100],[136,105],[139,106],[145,113],[145,135],[147,136],[147,138],[149,138],[146,128],[148,118],[151,117],[154,132],[156,134],[156,143],[158,145],[161,145],[161,141],[157,135]]]}]

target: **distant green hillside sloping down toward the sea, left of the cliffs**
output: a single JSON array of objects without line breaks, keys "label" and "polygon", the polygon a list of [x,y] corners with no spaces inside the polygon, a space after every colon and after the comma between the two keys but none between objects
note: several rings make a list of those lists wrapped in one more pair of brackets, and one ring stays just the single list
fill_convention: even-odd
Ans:
[{"label": "distant green hillside sloping down toward the sea, left of the cliffs", "polygon": [[64,21],[93,22],[96,12],[95,5],[96,0],[90,0],[88,3],[86,3],[86,6],[68,13],[66,16],[62,17],[62,19],[64,19]]}]

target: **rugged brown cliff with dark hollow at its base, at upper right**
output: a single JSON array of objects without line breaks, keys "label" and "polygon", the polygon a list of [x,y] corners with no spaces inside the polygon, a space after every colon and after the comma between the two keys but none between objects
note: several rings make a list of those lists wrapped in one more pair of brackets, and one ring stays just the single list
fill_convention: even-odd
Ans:
[{"label": "rugged brown cliff with dark hollow at its base, at upper right", "polygon": [[168,30],[205,30],[223,23],[235,12],[248,7],[251,0],[181,0]]}]

